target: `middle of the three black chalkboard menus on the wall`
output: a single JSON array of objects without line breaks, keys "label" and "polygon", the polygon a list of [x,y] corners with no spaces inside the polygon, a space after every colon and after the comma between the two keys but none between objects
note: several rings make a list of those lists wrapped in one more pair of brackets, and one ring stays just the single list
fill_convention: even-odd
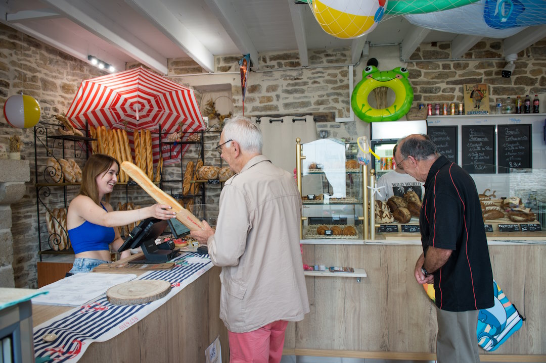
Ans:
[{"label": "middle of the three black chalkboard menus on the wall", "polygon": [[495,125],[462,128],[462,168],[470,174],[494,174]]}]

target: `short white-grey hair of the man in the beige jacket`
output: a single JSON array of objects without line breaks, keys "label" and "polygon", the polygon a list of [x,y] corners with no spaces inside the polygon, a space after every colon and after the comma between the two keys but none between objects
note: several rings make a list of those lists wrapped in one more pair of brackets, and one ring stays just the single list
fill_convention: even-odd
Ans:
[{"label": "short white-grey hair of the man in the beige jacket", "polygon": [[245,152],[262,154],[262,130],[250,118],[235,116],[224,120],[224,142],[236,141]]}]

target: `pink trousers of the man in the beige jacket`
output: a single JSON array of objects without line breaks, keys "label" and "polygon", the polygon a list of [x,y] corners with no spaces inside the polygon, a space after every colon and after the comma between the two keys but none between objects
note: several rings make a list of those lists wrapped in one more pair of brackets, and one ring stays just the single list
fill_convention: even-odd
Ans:
[{"label": "pink trousers of the man in the beige jacket", "polygon": [[288,322],[278,320],[246,333],[228,331],[229,363],[280,362],[287,325]]}]

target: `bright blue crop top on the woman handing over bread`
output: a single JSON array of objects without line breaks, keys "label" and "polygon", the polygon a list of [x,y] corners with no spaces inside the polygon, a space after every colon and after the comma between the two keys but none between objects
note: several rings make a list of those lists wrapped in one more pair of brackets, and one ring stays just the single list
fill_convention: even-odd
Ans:
[{"label": "bright blue crop top on the woman handing over bread", "polygon": [[[100,203],[103,207],[104,205]],[[68,230],[68,237],[74,253],[87,251],[109,251],[110,244],[114,241],[116,233],[114,227],[99,226],[85,221],[76,228]]]}]

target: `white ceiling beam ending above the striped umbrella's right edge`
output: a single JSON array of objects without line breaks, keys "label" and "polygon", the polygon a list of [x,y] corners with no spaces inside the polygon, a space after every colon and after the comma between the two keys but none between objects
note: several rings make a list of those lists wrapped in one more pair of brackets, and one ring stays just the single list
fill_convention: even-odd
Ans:
[{"label": "white ceiling beam ending above the striped umbrella's right edge", "polygon": [[214,71],[214,55],[184,26],[161,1],[125,0],[134,10],[150,20],[173,43],[179,45],[207,72]]}]

